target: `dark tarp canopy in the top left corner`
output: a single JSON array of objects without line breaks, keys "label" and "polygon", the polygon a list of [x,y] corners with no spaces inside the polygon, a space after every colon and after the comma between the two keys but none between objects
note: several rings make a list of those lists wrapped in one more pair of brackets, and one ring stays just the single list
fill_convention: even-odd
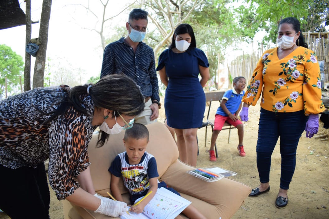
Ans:
[{"label": "dark tarp canopy in the top left corner", "polygon": [[0,29],[25,25],[25,13],[18,0],[0,0]]}]

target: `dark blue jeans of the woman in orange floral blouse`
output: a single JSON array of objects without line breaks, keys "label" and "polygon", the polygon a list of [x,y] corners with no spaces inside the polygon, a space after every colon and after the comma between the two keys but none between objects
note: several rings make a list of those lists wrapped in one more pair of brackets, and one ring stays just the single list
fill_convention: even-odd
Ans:
[{"label": "dark blue jeans of the woman in orange floral blouse", "polygon": [[261,108],[257,139],[257,168],[259,180],[269,182],[271,155],[280,137],[280,188],[289,189],[296,166],[296,150],[308,116],[297,112],[272,112]]}]

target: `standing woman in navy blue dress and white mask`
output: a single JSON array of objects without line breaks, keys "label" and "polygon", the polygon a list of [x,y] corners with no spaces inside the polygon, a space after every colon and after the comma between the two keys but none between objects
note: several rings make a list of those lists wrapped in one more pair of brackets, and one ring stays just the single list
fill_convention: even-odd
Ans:
[{"label": "standing woman in navy blue dress and white mask", "polygon": [[208,59],[202,50],[196,48],[189,24],[180,24],[175,29],[169,49],[159,57],[157,71],[167,86],[164,109],[167,125],[174,128],[177,136],[179,158],[196,166],[196,132],[202,124],[206,107],[203,87],[210,74]]}]

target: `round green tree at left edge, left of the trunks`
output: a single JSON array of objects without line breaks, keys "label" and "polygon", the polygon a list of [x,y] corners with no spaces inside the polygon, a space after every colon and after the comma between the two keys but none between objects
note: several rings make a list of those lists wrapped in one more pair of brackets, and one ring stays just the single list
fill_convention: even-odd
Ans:
[{"label": "round green tree at left edge, left of the trunks", "polygon": [[7,95],[20,91],[19,76],[24,72],[23,58],[5,44],[0,44],[0,99],[6,95],[5,78],[7,77]]}]

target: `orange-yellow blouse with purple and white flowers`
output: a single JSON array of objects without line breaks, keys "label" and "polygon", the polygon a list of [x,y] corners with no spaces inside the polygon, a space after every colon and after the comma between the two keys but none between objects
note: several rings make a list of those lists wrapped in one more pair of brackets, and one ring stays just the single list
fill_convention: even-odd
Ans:
[{"label": "orange-yellow blouse with purple and white flowers", "polygon": [[255,106],[262,93],[261,107],[269,111],[304,109],[305,115],[324,111],[315,52],[299,46],[279,59],[277,48],[266,50],[258,61],[242,101]]}]

